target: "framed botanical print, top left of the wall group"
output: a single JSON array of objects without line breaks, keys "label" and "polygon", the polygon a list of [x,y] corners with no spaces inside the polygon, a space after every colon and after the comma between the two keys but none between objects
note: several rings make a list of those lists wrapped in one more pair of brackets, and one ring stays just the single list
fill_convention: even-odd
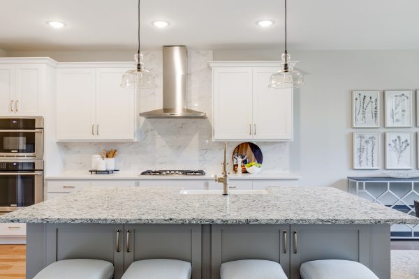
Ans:
[{"label": "framed botanical print, top left of the wall group", "polygon": [[352,128],[380,127],[379,90],[352,91]]}]

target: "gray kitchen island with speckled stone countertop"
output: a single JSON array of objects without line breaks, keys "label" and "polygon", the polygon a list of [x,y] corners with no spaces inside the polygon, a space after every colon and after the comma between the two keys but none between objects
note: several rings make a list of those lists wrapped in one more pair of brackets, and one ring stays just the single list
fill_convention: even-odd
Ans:
[{"label": "gray kitchen island with speckled stone countertop", "polygon": [[[390,279],[390,224],[418,219],[335,188],[268,188],[225,197],[181,188],[89,188],[0,217],[27,223],[27,278],[61,259],[104,259],[121,278],[140,259],[182,259],[193,279],[219,279],[221,263],[350,259]],[[164,268],[162,266],[162,268]]]}]

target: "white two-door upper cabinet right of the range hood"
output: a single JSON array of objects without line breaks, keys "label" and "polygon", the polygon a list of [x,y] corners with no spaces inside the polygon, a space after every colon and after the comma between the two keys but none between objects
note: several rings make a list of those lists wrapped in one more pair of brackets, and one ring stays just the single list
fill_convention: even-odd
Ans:
[{"label": "white two-door upper cabinet right of the range hood", "polygon": [[214,140],[293,140],[293,89],[270,89],[277,62],[213,61]]}]

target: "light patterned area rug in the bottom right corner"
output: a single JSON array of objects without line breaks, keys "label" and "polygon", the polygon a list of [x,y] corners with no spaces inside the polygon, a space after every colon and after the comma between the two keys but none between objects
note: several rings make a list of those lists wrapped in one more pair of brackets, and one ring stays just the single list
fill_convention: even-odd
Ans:
[{"label": "light patterned area rug in the bottom right corner", "polygon": [[419,250],[391,250],[391,279],[419,279]]}]

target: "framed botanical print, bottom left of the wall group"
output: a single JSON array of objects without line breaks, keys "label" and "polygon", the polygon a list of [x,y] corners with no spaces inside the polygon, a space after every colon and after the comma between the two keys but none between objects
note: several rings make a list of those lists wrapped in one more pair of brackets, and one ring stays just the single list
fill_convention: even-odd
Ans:
[{"label": "framed botanical print, bottom left of the wall group", "polygon": [[353,133],[353,169],[380,169],[381,133]]}]

